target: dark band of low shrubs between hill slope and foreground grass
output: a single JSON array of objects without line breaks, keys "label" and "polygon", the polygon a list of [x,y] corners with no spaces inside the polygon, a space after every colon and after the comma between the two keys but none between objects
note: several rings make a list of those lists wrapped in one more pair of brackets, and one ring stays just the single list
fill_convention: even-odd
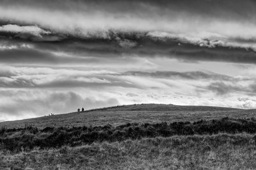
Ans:
[{"label": "dark band of low shrubs between hill slope and foreground grass", "polygon": [[[102,141],[124,141],[125,139],[169,137],[194,134],[236,134],[256,132],[256,119],[222,118],[198,122],[173,122],[160,124],[124,124],[97,127],[45,127],[38,129],[26,126],[20,129],[0,129],[0,150],[11,152],[28,151],[33,148],[58,148],[64,145],[78,146]],[[255,136],[256,140],[256,136]]]}]

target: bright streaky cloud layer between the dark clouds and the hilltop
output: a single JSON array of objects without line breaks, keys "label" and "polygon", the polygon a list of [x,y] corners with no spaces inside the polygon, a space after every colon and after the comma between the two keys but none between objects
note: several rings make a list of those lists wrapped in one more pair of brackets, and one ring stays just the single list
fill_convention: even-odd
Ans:
[{"label": "bright streaky cloud layer between the dark clouds and the hilltop", "polygon": [[255,74],[249,74],[250,69],[246,75],[232,76],[212,71],[3,66],[0,69],[1,119],[67,113],[82,106],[90,109],[132,103],[253,108],[256,78]]}]

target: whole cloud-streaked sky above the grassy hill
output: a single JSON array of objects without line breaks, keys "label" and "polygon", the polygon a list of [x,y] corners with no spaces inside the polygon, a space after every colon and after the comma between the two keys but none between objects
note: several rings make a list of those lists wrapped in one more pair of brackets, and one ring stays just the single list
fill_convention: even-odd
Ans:
[{"label": "whole cloud-streaked sky above the grassy hill", "polygon": [[0,0],[0,121],[140,103],[256,108],[256,2]]}]

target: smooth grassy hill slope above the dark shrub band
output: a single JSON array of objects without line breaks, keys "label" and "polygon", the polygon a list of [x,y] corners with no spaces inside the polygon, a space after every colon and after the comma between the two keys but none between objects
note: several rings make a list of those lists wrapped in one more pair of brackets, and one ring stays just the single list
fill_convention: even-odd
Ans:
[{"label": "smooth grassy hill slope above the dark shrub band", "polygon": [[239,110],[209,106],[176,106],[172,104],[137,104],[102,108],[80,113],[38,117],[12,122],[1,122],[0,127],[25,127],[25,124],[36,127],[47,126],[83,126],[83,125],[120,125],[129,122],[157,123],[175,121],[196,121],[212,118],[243,118],[254,117],[255,110]]}]

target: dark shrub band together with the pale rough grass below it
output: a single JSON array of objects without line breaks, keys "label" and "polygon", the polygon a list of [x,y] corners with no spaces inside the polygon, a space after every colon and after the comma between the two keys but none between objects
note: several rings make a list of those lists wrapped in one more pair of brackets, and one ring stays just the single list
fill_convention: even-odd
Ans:
[{"label": "dark shrub band together with the pale rough grass below it", "polygon": [[0,129],[0,169],[256,169],[256,120]]}]

